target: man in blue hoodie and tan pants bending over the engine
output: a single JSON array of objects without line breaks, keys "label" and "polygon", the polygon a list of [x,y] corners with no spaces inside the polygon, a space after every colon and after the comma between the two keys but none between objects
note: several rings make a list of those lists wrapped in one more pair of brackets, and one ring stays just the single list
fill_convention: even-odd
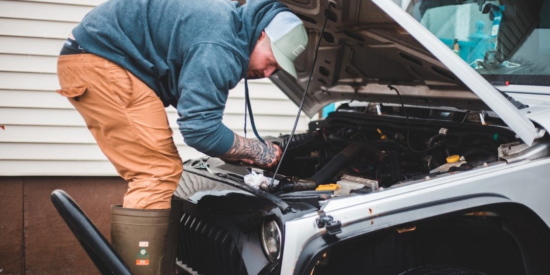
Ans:
[{"label": "man in blue hoodie and tan pants bending over the engine", "polygon": [[128,181],[123,205],[111,208],[111,238],[134,274],[171,273],[160,265],[183,166],[164,107],[177,108],[185,143],[209,156],[262,168],[281,158],[277,145],[233,133],[222,116],[241,79],[278,69],[296,77],[306,31],[281,3],[248,2],[110,0],[62,48],[57,92]]}]

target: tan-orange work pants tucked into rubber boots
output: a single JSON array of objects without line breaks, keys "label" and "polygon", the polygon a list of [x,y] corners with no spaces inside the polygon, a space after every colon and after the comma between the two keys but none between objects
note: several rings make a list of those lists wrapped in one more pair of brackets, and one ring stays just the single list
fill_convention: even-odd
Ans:
[{"label": "tan-orange work pants tucked into rubber boots", "polygon": [[123,207],[170,208],[182,174],[160,98],[130,72],[94,54],[60,56],[57,92],[84,118],[88,129],[128,181]]}]

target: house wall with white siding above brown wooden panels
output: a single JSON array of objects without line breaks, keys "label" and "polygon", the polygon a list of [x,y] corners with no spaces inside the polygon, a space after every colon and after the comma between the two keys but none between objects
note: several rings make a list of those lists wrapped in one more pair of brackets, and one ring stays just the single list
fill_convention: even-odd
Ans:
[{"label": "house wall with white siding above brown wooden panels", "polygon": [[[0,274],[98,274],[50,194],[67,191],[109,239],[109,205],[122,202],[127,184],[73,106],[54,92],[65,38],[101,2],[0,0]],[[249,87],[260,135],[289,133],[294,103],[269,80]],[[223,118],[241,135],[244,106],[241,83],[230,91]],[[183,160],[201,156],[178,134],[175,109],[167,114]],[[302,116],[298,131],[307,122]]]}]

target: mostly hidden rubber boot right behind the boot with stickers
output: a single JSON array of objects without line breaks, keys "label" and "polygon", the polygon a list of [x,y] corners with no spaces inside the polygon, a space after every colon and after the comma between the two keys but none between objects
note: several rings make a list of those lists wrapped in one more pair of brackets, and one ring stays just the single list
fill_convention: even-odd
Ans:
[{"label": "mostly hidden rubber boot right behind the boot with stickers", "polygon": [[175,249],[178,244],[178,234],[180,222],[183,216],[183,200],[172,196],[172,211],[170,212],[170,222],[168,232],[166,233],[166,242],[164,243],[164,256],[162,258],[162,275],[175,275]]}]

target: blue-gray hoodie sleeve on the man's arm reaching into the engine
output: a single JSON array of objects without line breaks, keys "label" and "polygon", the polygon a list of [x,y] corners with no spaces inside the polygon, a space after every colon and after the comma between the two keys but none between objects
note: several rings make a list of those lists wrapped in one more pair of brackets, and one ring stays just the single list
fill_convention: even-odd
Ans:
[{"label": "blue-gray hoodie sleeve on the man's arm reaching into the engine", "polygon": [[221,156],[233,145],[233,131],[222,123],[229,89],[243,72],[239,58],[213,43],[191,47],[184,56],[178,89],[178,125],[187,145]]}]

